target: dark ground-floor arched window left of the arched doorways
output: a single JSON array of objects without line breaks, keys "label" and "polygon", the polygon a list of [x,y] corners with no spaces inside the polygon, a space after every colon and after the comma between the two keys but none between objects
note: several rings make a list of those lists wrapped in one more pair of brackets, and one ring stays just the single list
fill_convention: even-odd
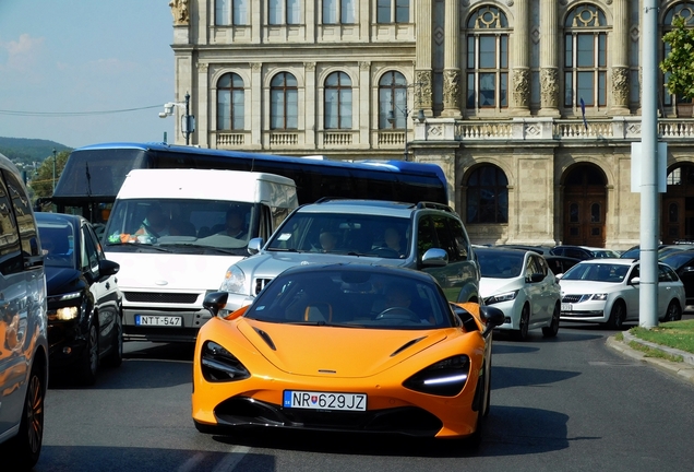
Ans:
[{"label": "dark ground-floor arched window left of the arched doorways", "polygon": [[508,223],[508,179],[495,165],[483,165],[470,174],[467,223]]}]

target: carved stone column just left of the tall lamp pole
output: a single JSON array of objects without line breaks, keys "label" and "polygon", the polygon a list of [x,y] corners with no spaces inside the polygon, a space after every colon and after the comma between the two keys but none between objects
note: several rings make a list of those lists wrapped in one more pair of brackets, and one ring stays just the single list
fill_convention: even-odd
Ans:
[{"label": "carved stone column just left of the tall lamp pole", "polygon": [[[612,38],[608,40],[612,46],[612,107],[611,115],[629,115],[629,2],[613,0],[612,12],[614,26]],[[609,55],[608,55],[609,56]]]}]

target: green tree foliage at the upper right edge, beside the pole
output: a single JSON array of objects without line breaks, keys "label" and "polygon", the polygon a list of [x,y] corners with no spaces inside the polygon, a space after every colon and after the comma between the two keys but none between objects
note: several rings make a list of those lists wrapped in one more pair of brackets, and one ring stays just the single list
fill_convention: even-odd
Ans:
[{"label": "green tree foliage at the upper right edge, beside the pole", "polygon": [[660,62],[660,70],[669,73],[668,92],[678,98],[694,98],[694,28],[682,16],[674,16],[673,28],[662,36],[670,45],[670,54]]}]

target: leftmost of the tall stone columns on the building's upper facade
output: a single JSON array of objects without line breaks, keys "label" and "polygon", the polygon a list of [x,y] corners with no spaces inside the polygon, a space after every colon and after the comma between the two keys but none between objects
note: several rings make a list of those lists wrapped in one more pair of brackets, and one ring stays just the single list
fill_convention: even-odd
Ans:
[{"label": "leftmost of the tall stone columns on the building's upper facade", "polygon": [[431,70],[431,0],[417,2],[417,59],[415,61],[415,107],[422,108],[424,115],[432,116],[432,70]]}]

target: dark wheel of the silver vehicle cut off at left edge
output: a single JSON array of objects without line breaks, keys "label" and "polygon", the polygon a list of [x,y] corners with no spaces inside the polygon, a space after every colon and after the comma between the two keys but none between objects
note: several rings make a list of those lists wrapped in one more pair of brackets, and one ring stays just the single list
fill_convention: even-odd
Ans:
[{"label": "dark wheel of the silver vehicle cut off at left edge", "polygon": [[34,365],[29,375],[20,432],[0,446],[2,457],[12,458],[17,470],[29,470],[41,452],[44,441],[44,402],[46,386],[44,370]]}]

